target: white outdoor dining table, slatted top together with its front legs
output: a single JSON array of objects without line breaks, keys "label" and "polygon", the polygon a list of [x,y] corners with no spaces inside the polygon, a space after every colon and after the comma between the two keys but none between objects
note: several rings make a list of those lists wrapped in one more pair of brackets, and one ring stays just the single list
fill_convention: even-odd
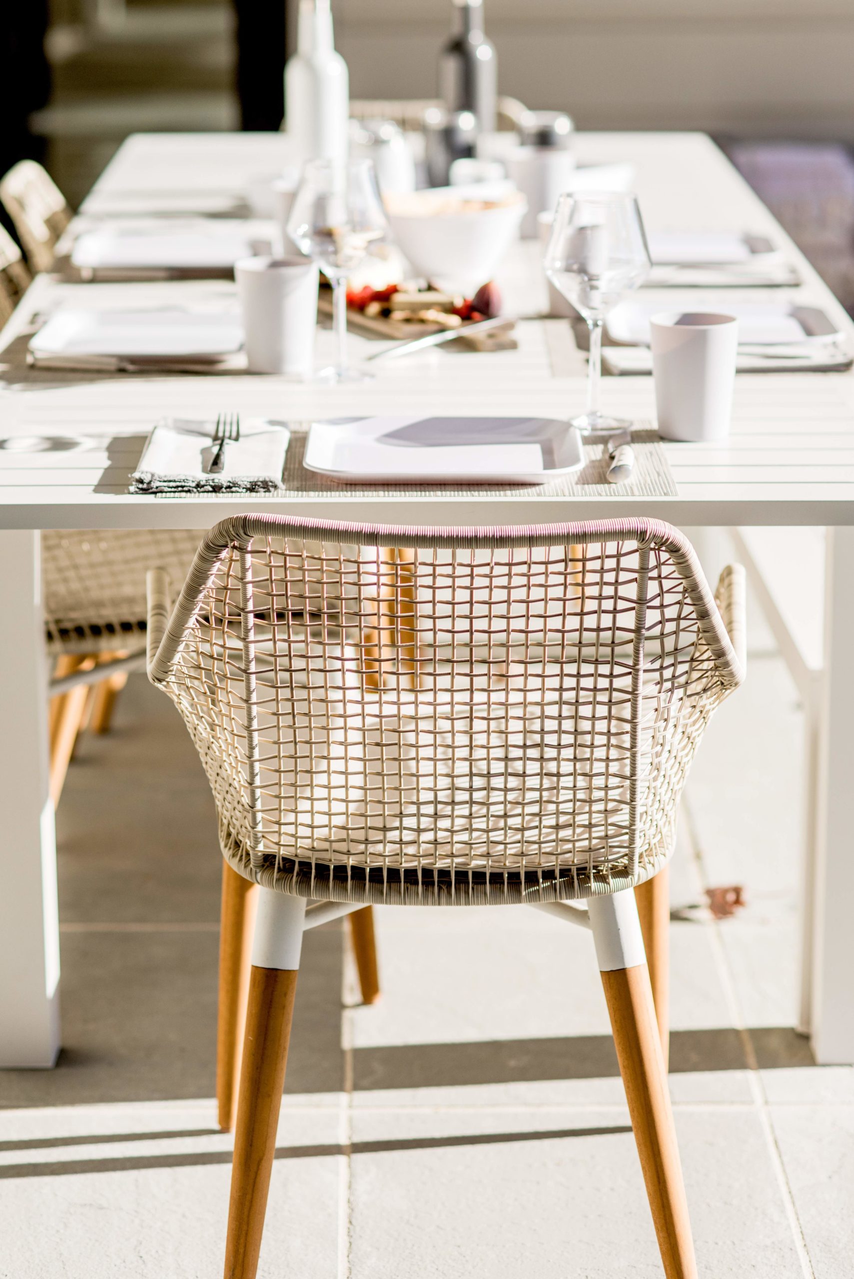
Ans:
[{"label": "white outdoor dining table, slatted top together with its front legs", "polygon": [[[703,134],[579,134],[582,162],[630,161],[648,229],[768,235],[796,266],[796,286],[644,290],[662,307],[726,310],[727,301],[793,299],[821,307],[846,340],[854,325],[757,196]],[[159,192],[240,196],[284,161],[279,134],[138,134],[84,205],[146,207]],[[440,348],[381,362],[376,379],[323,386],[275,376],[95,375],[29,368],[27,335],[64,306],[235,306],[222,280],[66,283],[40,276],[0,352],[0,1067],[50,1067],[61,1044],[54,815],[47,797],[47,683],[40,530],[207,528],[242,510],[400,524],[519,524],[653,515],[683,528],[826,526],[826,696],[821,715],[818,859],[813,894],[811,1035],[818,1062],[854,1062],[854,372],[757,373],[736,380],[731,437],[667,444],[676,496],[602,492],[573,498],[514,489],[465,495],[329,491],[284,498],[132,496],[142,441],[164,416],[240,414],[312,421],[343,416],[476,413],[569,417],[584,400],[586,359],[566,321],[543,318],[536,244],[520,243],[500,279],[505,308],[524,316],[519,347],[500,353]],[[689,299],[689,301],[688,301]],[[702,302],[701,302],[702,299]],[[320,335],[321,347],[331,334]],[[353,338],[354,354],[368,339]],[[651,377],[606,379],[607,409],[655,420]],[[42,451],[27,441],[46,441]],[[818,570],[818,569],[817,569]],[[798,582],[791,582],[798,591]],[[116,831],[120,838],[120,831]]]}]

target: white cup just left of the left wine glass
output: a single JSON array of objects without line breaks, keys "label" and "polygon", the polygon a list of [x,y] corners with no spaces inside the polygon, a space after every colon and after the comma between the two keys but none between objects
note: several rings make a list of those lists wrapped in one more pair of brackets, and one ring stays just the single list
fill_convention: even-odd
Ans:
[{"label": "white cup just left of the left wine glass", "polygon": [[308,377],[317,326],[317,263],[244,257],[234,263],[251,373]]}]

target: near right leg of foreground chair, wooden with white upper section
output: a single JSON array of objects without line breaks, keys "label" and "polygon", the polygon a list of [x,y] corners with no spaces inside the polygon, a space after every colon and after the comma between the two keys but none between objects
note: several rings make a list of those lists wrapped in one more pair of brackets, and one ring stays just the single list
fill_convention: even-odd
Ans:
[{"label": "near right leg of foreground chair, wooden with white upper section", "polygon": [[676,1129],[632,890],[591,898],[605,999],[667,1279],[697,1279]]}]

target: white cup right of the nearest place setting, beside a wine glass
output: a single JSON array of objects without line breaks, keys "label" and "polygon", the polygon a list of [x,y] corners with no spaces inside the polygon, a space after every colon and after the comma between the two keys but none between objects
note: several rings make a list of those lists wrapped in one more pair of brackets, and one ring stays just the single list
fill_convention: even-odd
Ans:
[{"label": "white cup right of the nearest place setting, beside a wine glass", "polygon": [[730,434],[739,322],[711,311],[652,316],[658,434],[665,440],[725,440]]}]

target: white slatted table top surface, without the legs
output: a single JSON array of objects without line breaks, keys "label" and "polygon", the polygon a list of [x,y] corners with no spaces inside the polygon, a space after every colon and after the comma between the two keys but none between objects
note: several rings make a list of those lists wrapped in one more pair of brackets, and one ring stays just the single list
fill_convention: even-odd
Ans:
[{"label": "white slatted table top surface, without the legs", "polygon": [[[803,278],[799,288],[716,290],[727,297],[796,298],[822,307],[841,330],[854,325],[768,211],[702,134],[580,134],[587,162],[630,160],[647,226],[727,229],[770,234],[785,246]],[[224,189],[275,171],[283,155],[277,134],[162,134],[128,139],[97,191]],[[238,159],[239,157],[239,159]],[[536,244],[519,246],[505,271],[508,310],[536,312],[545,281]],[[653,290],[644,295],[655,297]],[[661,290],[662,306],[685,294]],[[701,304],[692,290],[692,308]],[[708,295],[706,295],[708,299]],[[159,499],[130,496],[128,475],[141,436],[166,414],[203,416],[238,409],[245,416],[312,420],[345,414],[501,413],[569,417],[584,400],[584,357],[564,321],[527,320],[519,350],[451,354],[436,349],[377,367],[375,381],[344,388],[293,384],[258,376],[69,375],[27,370],[26,331],[33,313],[73,306],[221,306],[234,298],[224,281],[61,284],[40,278],[4,334],[0,353],[0,528],[207,527],[238,510],[389,523],[523,523],[648,514],[679,524],[854,524],[854,372],[741,375],[736,380],[733,435],[726,445],[667,445],[678,485],[674,499],[506,496],[436,499],[417,492],[295,501],[253,498]],[[19,336],[18,336],[19,335]],[[330,334],[321,334],[323,345]],[[358,357],[366,339],[353,338]],[[649,377],[605,379],[603,407],[655,418]],[[22,435],[83,437],[84,446],[43,453],[14,451]]]}]

